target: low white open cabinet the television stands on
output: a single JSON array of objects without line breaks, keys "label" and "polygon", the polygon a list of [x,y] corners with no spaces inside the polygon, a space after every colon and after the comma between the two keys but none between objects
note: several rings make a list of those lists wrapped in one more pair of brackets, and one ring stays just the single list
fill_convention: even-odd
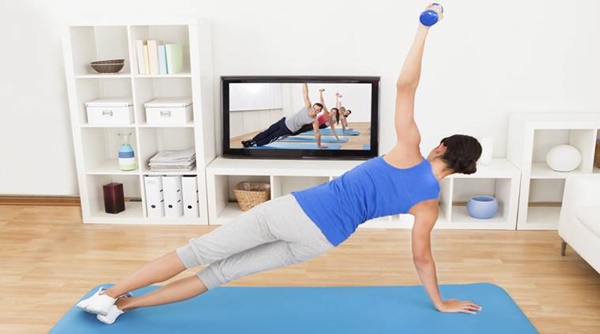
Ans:
[{"label": "low white open cabinet the television stands on", "polygon": [[[271,198],[318,185],[359,165],[362,161],[294,161],[217,158],[207,168],[210,224],[222,225],[242,213],[235,202],[234,186],[241,181],[271,184]],[[515,229],[520,171],[506,159],[478,167],[473,175],[455,175],[441,184],[440,219],[436,228]],[[475,195],[493,195],[500,209],[492,219],[475,219],[466,201]],[[412,217],[400,215],[369,221],[364,227],[410,227]]]}]

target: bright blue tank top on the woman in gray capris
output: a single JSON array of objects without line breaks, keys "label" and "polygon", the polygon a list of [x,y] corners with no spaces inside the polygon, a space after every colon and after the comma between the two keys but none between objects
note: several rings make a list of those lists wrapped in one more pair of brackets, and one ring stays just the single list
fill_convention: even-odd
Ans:
[{"label": "bright blue tank top on the woman in gray capris", "polygon": [[397,168],[377,157],[333,181],[293,192],[302,210],[334,246],[367,220],[407,213],[413,205],[438,199],[440,185],[423,159]]}]

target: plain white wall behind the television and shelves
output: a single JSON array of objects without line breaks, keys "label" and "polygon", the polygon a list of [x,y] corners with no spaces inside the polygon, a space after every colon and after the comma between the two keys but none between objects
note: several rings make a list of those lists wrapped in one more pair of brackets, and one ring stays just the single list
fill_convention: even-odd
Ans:
[{"label": "plain white wall behind the television and shelves", "polygon": [[[215,87],[221,75],[381,76],[385,151],[394,139],[394,82],[426,3],[4,0],[0,195],[77,195],[61,50],[69,20],[206,18]],[[424,150],[442,135],[485,133],[494,155],[504,156],[508,113],[600,110],[600,2],[443,4],[446,19],[430,33],[417,96]]]}]

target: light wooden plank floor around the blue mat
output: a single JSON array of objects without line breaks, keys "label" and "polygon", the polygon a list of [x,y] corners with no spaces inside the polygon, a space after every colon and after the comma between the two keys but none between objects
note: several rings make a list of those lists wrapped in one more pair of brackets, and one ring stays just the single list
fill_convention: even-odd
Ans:
[{"label": "light wooden plank floor around the blue mat", "polygon": [[[0,206],[0,333],[47,333],[91,287],[211,229],[84,225],[78,207]],[[320,258],[232,285],[419,284],[409,246],[408,230],[360,229]],[[600,276],[559,251],[556,231],[434,232],[441,283],[495,283],[541,333],[600,333]]]}]

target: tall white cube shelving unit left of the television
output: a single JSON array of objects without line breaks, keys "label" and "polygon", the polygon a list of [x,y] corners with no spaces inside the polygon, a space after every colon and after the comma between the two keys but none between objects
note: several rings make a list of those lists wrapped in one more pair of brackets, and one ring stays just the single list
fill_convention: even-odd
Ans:
[{"label": "tall white cube shelving unit left of the television", "polygon": [[[183,46],[183,70],[177,74],[140,75],[136,40],[162,40]],[[212,91],[212,50],[208,27],[196,19],[77,22],[66,27],[63,39],[69,108],[79,194],[85,223],[208,224],[205,167],[215,157],[215,111]],[[98,74],[89,65],[102,59],[125,59],[118,74]],[[157,97],[192,97],[193,122],[149,125],[144,103]],[[85,103],[98,98],[127,97],[133,102],[132,124],[88,124]],[[137,170],[121,171],[118,133],[131,133]],[[159,150],[195,148],[197,167],[185,173],[158,173],[148,159]],[[198,218],[148,218],[145,175],[195,175]],[[119,182],[125,211],[104,212],[104,184]]]}]

